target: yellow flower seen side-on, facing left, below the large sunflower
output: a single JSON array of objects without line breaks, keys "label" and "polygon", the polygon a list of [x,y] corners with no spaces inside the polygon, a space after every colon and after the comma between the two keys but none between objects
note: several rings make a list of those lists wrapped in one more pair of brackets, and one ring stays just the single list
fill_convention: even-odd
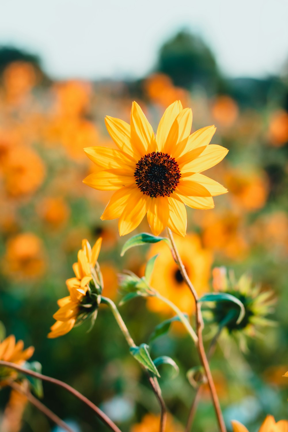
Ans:
[{"label": "yellow flower seen side-on, facing left, below the large sunflower", "polygon": [[[98,238],[95,245],[91,246],[87,240],[82,241],[82,249],[78,252],[78,261],[73,264],[75,277],[66,280],[69,294],[59,299],[58,311],[53,315],[56,322],[51,327],[49,338],[63,336],[68,333],[75,324],[88,318],[97,311],[97,295],[92,292],[89,283],[98,260],[102,239]],[[95,282],[94,282],[95,287]]]}]

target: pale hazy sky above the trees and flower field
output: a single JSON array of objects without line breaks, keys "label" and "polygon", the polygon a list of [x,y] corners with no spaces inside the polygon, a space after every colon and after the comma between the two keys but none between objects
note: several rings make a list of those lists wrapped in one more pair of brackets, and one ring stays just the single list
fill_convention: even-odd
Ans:
[{"label": "pale hazy sky above the trees and flower field", "polygon": [[54,78],[143,76],[183,27],[228,76],[277,73],[288,58],[288,0],[0,0],[0,44],[39,54]]}]

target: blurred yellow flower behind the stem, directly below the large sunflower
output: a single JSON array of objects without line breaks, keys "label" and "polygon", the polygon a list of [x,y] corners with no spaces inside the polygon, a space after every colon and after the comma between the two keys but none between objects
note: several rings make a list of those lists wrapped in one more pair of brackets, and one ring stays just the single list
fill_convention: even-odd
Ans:
[{"label": "blurred yellow flower behind the stem, directly below the large sunflower", "polygon": [[[175,242],[188,276],[201,296],[208,290],[212,254],[202,248],[197,235],[188,234],[185,238],[176,237]],[[156,254],[158,257],[152,273],[151,286],[175,303],[182,311],[191,314],[195,309],[194,300],[187,290],[171,251],[165,243],[159,242],[152,245],[148,257],[151,258]],[[147,305],[152,311],[171,314],[171,308],[154,297],[147,299]]]}]

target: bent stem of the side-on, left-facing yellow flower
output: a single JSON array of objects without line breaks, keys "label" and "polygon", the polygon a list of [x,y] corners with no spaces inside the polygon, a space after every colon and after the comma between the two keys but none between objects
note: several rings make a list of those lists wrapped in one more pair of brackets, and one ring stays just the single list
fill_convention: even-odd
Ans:
[{"label": "bent stem of the side-on, left-facing yellow flower", "polygon": [[[124,323],[123,318],[121,317],[120,312],[118,311],[115,303],[112,302],[111,299],[108,299],[107,297],[103,297],[102,295],[101,295],[101,303],[104,303],[104,305],[109,306],[109,308],[111,309],[111,312],[114,315],[114,318],[117,321],[117,324],[120,327],[120,330],[122,331],[123,336],[127,340],[127,343],[130,346],[130,348],[135,347],[136,344],[135,344],[134,340],[132,339],[132,337],[129,333],[129,330],[127,329],[127,326]],[[166,410],[166,405],[165,405],[164,399],[162,397],[161,388],[159,386],[157,378],[152,377],[150,375],[149,371],[144,366],[142,366],[142,368],[143,368],[143,370],[145,370],[145,373],[147,375],[147,378],[149,380],[151,388],[152,388],[153,392],[155,393],[155,396],[157,397],[158,403],[160,405],[161,416],[160,416],[160,429],[159,430],[160,430],[160,432],[164,432],[165,431],[165,425],[166,425],[166,418],[167,418],[167,410]]]}]

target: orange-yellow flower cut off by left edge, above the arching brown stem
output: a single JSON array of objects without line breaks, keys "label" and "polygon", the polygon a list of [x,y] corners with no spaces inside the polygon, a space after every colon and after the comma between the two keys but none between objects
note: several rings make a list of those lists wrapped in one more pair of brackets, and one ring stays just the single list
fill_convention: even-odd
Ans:
[{"label": "orange-yellow flower cut off by left edge, above the arching brown stem", "polygon": [[[15,336],[11,334],[0,343],[0,360],[5,362],[22,365],[26,360],[30,359],[34,353],[34,346],[24,349],[24,342],[18,340],[16,343]],[[5,380],[7,377],[16,376],[17,372],[8,368],[0,368],[0,380]]]}]

